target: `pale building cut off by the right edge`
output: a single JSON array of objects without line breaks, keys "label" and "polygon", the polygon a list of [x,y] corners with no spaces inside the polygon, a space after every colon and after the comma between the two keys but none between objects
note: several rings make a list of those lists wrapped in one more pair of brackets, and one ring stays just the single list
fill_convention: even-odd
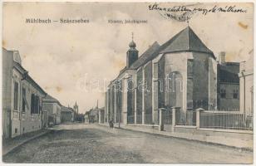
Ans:
[{"label": "pale building cut off by the right edge", "polygon": [[249,60],[241,63],[240,110],[246,115],[254,115],[254,51],[249,52]]}]

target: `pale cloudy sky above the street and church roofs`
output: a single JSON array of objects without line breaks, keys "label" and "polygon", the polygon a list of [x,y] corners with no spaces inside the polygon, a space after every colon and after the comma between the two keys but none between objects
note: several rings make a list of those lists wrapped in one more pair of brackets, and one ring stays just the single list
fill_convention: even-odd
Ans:
[{"label": "pale cloudy sky above the street and church roofs", "polygon": [[[2,46],[17,50],[30,76],[60,100],[80,112],[104,106],[104,87],[126,66],[126,51],[134,32],[140,54],[154,41],[163,44],[187,27],[187,22],[166,19],[150,11],[151,3],[103,2],[5,2],[3,3]],[[162,7],[184,4],[167,3]],[[197,12],[190,27],[218,56],[227,61],[246,61],[253,49],[253,5],[250,3],[198,4],[196,7],[235,5],[247,12]],[[27,18],[90,20],[87,24],[28,24]],[[147,24],[109,24],[108,20],[147,20]],[[104,83],[106,82],[106,83]]]}]

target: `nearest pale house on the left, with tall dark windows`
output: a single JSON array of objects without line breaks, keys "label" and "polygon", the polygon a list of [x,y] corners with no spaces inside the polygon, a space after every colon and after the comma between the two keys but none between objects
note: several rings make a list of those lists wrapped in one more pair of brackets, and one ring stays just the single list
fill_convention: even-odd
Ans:
[{"label": "nearest pale house on the left, with tall dark windows", "polygon": [[47,93],[28,75],[18,51],[2,48],[2,136],[42,129],[42,98]]}]

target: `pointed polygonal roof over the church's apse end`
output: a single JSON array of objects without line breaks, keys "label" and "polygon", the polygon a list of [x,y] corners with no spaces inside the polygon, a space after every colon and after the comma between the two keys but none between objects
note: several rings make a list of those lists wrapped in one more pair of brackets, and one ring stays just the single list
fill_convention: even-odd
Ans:
[{"label": "pointed polygonal roof over the church's apse end", "polygon": [[179,52],[179,51],[199,51],[209,53],[214,59],[213,51],[210,51],[207,46],[197,37],[190,27],[186,27],[172,37],[169,41],[161,46],[160,53]]}]

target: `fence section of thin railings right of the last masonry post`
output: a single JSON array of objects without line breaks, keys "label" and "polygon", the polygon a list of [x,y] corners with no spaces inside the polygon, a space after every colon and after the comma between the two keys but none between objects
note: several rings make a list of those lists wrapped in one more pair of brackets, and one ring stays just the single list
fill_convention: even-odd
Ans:
[{"label": "fence section of thin railings right of the last masonry post", "polygon": [[253,115],[238,111],[203,111],[199,115],[200,128],[253,130],[253,126]]}]

